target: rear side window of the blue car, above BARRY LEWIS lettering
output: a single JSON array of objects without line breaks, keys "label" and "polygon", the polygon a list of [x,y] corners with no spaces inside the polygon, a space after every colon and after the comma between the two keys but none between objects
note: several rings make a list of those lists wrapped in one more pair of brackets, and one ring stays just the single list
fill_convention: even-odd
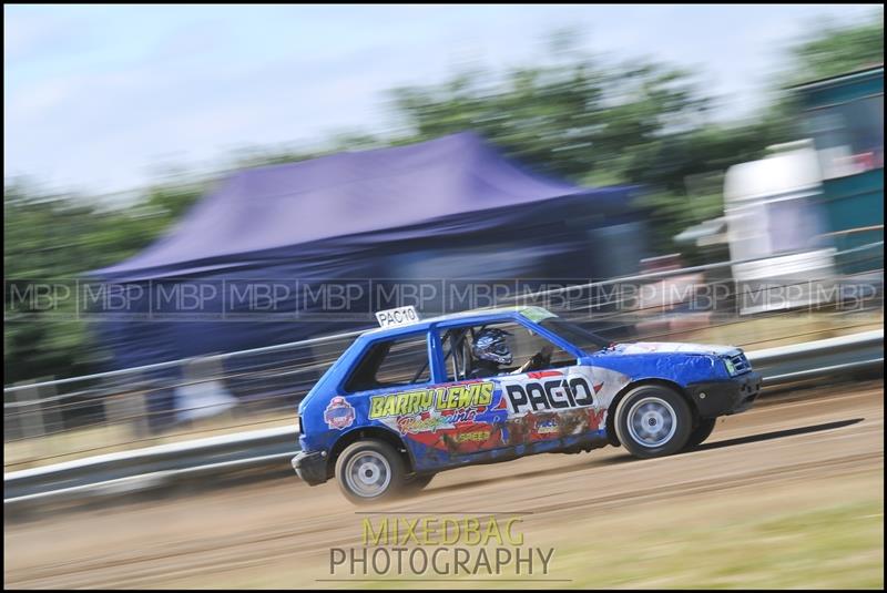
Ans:
[{"label": "rear side window of the blue car, above BARRY LEWIS lettering", "polygon": [[345,384],[348,392],[425,384],[430,380],[427,334],[373,344]]}]

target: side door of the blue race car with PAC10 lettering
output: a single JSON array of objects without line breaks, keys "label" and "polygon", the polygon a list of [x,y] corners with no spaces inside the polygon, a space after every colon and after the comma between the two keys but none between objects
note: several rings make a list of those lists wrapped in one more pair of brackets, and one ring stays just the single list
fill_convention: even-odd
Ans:
[{"label": "side door of the blue race car with PAC10 lettering", "polygon": [[[489,327],[489,325],[483,326]],[[442,415],[436,438],[457,462],[569,448],[605,437],[608,371],[579,365],[538,328],[499,324],[513,337],[513,368],[470,378],[472,331],[449,327],[441,335],[448,382],[438,385]],[[521,341],[519,338],[529,338]],[[521,372],[521,365],[543,346],[553,349],[547,365]],[[612,386],[611,386],[612,387]],[[479,397],[475,397],[477,393]]]}]

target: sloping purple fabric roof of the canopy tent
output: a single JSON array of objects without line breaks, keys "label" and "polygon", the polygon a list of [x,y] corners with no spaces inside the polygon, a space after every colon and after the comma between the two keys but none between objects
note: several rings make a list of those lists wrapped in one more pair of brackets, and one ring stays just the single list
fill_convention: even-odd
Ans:
[{"label": "sloping purple fabric roof of the canopy tent", "polygon": [[633,190],[593,190],[540,176],[466,132],[241,171],[164,237],[92,275],[181,277],[256,266],[268,257],[305,257],[327,249],[334,237],[337,246],[354,249],[498,228],[510,224],[517,207],[554,198],[593,197],[606,215],[625,212]]}]

